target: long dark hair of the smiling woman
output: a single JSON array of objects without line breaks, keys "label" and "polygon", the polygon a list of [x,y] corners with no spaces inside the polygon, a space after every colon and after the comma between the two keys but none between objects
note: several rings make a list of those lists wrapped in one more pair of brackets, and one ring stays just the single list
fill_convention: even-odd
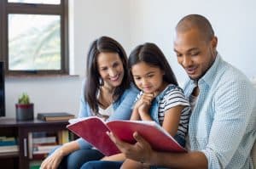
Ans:
[{"label": "long dark hair of the smiling woman", "polygon": [[124,48],[111,37],[99,37],[90,45],[86,61],[86,82],[84,89],[84,99],[88,102],[90,109],[98,115],[97,94],[102,85],[102,78],[97,68],[97,57],[100,53],[117,53],[124,66],[124,77],[119,87],[113,92],[113,99],[117,100],[130,87],[130,74],[128,72],[127,55]]}]

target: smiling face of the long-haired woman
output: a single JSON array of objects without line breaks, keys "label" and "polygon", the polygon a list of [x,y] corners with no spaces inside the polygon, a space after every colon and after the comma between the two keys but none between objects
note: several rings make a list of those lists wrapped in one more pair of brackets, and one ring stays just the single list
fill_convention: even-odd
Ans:
[{"label": "smiling face of the long-haired woman", "polygon": [[97,57],[97,68],[107,87],[118,87],[122,83],[125,72],[119,54],[100,53]]}]

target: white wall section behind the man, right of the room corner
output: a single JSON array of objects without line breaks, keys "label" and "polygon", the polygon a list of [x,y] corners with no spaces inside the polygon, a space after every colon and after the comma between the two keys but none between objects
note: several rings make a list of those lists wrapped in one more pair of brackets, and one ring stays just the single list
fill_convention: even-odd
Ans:
[{"label": "white wall section behind the man, right of the room corner", "polygon": [[169,59],[179,82],[185,73],[173,53],[173,32],[186,14],[202,14],[210,20],[223,58],[249,78],[256,76],[256,1],[254,0],[131,0],[131,45],[156,42]]}]

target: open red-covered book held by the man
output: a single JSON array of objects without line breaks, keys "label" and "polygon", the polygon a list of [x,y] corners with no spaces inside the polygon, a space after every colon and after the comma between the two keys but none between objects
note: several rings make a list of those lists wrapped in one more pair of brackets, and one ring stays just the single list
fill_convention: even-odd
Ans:
[{"label": "open red-covered book held by the man", "polygon": [[91,116],[69,121],[67,128],[84,138],[91,145],[99,149],[104,155],[115,155],[120,151],[113,144],[106,132],[113,134],[120,140],[135,144],[133,132],[138,132],[151,145],[152,149],[169,152],[186,152],[172,136],[154,121],[108,121]]}]

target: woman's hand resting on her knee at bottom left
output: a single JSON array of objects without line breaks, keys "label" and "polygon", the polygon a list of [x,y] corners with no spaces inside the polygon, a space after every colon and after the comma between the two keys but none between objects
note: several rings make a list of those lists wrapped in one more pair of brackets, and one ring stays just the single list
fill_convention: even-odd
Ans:
[{"label": "woman's hand resting on her knee at bottom left", "polygon": [[61,148],[56,149],[53,154],[49,155],[41,164],[40,169],[56,169],[64,155],[61,153]]}]

